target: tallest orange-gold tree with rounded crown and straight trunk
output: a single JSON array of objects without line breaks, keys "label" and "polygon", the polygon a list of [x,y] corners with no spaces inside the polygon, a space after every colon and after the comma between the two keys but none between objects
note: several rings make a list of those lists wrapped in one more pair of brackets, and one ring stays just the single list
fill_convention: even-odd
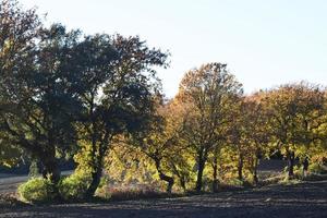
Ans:
[{"label": "tallest orange-gold tree with rounded crown and straight trunk", "polygon": [[223,137],[219,128],[229,122],[227,102],[242,94],[241,84],[230,74],[226,64],[209,63],[189,71],[182,82],[178,99],[187,104],[184,136],[191,153],[195,154],[197,179],[195,190],[203,186],[203,172],[208,154]]}]

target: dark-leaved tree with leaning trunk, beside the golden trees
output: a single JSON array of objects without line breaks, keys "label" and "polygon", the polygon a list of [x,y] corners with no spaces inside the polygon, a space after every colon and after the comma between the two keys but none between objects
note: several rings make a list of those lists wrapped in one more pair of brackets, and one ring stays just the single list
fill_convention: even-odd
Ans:
[{"label": "dark-leaved tree with leaning trunk, beside the golden trees", "polygon": [[[111,61],[112,51],[116,59]],[[85,114],[80,132],[81,140],[90,149],[88,157],[80,155],[80,161],[84,161],[92,174],[85,194],[90,197],[99,185],[104,158],[112,140],[148,125],[154,96],[159,90],[154,66],[167,66],[168,55],[149,49],[138,37],[120,35],[87,37],[76,52],[81,56],[83,80],[89,84],[81,97]]]}]

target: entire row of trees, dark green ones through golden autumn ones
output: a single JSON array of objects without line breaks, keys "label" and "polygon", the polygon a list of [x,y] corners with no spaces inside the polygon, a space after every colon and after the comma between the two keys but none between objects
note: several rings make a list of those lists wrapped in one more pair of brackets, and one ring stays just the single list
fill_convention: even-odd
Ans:
[{"label": "entire row of trees, dark green ones through golden autumn ones", "polygon": [[[83,36],[60,24],[45,27],[35,10],[0,4],[0,162],[20,155],[41,164],[56,187],[62,159],[74,157],[89,179],[106,169],[120,182],[160,180],[203,190],[232,178],[258,181],[262,157],[279,150],[293,175],[326,153],[326,92],[300,83],[244,96],[227,65],[187,72],[165,99],[156,69],[167,52],[138,37]],[[55,192],[59,195],[58,190]]]}]

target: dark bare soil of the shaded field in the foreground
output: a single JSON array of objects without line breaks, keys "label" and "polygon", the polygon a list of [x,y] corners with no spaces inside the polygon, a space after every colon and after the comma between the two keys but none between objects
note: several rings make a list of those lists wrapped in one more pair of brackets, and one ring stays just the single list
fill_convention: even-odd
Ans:
[{"label": "dark bare soil of the shaded field in the foreground", "polygon": [[0,217],[327,217],[327,181],[179,198],[4,208]]}]

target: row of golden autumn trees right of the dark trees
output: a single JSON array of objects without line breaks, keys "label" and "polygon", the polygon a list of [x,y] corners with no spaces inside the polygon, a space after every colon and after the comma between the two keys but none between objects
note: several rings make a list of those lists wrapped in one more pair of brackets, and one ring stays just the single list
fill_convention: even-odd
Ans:
[{"label": "row of golden autumn trees right of the dark trees", "polygon": [[223,178],[257,183],[259,159],[280,153],[292,178],[295,160],[305,172],[311,159],[326,158],[326,104],[325,89],[304,82],[243,95],[226,64],[204,64],[184,75],[173,99],[158,104],[160,120],[145,136],[116,145],[108,171],[112,175],[112,165],[120,166],[113,168],[122,169],[118,181],[131,181],[121,174],[126,168],[137,174],[143,166],[155,169],[168,192],[175,180],[196,191],[209,181],[217,191]]}]

